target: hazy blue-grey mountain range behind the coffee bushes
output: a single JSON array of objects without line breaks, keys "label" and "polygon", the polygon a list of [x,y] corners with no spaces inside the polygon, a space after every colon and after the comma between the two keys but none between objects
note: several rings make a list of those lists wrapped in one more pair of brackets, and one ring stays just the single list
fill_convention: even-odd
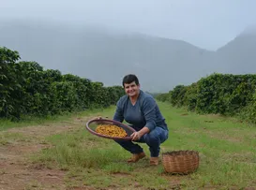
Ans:
[{"label": "hazy blue-grey mountain range behind the coffee bushes", "polygon": [[0,22],[0,34],[0,46],[19,51],[24,61],[107,86],[135,73],[143,90],[154,93],[214,72],[256,72],[253,35],[207,51],[182,40],[50,22]]}]

